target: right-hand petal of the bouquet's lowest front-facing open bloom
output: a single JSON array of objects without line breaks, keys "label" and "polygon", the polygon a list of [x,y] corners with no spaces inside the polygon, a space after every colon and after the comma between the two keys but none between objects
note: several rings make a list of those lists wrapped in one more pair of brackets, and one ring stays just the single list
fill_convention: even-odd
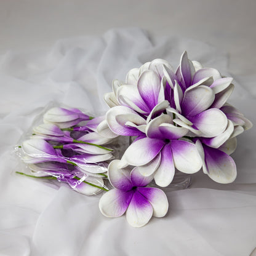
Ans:
[{"label": "right-hand petal of the bouquet's lowest front-facing open bloom", "polygon": [[193,143],[173,140],[170,144],[175,167],[185,174],[194,174],[202,167],[198,150]]}]

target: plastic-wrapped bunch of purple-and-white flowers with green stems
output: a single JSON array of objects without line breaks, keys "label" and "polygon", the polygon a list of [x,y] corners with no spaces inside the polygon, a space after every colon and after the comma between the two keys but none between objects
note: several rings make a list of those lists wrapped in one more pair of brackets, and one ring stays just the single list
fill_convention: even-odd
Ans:
[{"label": "plastic-wrapped bunch of purple-and-white flowers with green stems", "polygon": [[22,160],[33,172],[28,176],[65,182],[86,195],[107,191],[103,178],[113,150],[102,146],[110,139],[96,131],[102,119],[74,108],[47,111],[44,123],[34,127],[31,138],[20,146]]}]

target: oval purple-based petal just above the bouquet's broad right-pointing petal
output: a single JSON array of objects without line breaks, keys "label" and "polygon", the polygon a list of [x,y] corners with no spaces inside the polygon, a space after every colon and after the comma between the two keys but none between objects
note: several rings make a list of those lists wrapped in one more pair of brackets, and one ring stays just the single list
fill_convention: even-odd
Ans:
[{"label": "oval purple-based petal just above the bouquet's broad right-pointing petal", "polygon": [[208,86],[198,86],[192,90],[185,91],[182,101],[182,114],[195,116],[207,110],[214,102],[214,92]]}]

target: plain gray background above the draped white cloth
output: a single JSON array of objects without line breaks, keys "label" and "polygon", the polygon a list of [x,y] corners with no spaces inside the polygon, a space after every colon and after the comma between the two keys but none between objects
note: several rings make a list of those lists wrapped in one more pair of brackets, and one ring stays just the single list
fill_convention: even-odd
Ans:
[{"label": "plain gray background above the draped white cloth", "polygon": [[255,0],[1,0],[0,54],[45,49],[57,39],[138,26],[153,36],[208,42],[230,55],[231,73],[255,74]]}]

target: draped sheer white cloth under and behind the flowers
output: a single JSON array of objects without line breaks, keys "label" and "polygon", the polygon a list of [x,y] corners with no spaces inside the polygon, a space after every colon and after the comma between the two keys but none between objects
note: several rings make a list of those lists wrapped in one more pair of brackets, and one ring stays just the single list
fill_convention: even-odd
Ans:
[{"label": "draped sheer white cloth under and behind the flowers", "polygon": [[100,195],[83,196],[15,174],[14,146],[49,102],[103,113],[113,79],[154,58],[173,66],[187,50],[191,60],[236,80],[230,103],[255,123],[254,77],[227,70],[227,55],[204,42],[152,38],[138,28],[103,36],[60,40],[45,51],[7,52],[0,58],[0,254],[250,255],[256,247],[256,151],[254,128],[238,137],[233,184],[212,182],[200,170],[190,189],[167,192],[169,212],[132,228],[124,216],[106,218]]}]

